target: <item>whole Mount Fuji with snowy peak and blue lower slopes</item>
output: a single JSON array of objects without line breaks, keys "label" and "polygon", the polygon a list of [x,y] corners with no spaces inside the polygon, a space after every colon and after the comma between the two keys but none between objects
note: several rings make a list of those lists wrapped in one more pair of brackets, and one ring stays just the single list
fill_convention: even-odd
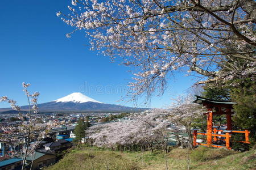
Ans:
[{"label": "whole Mount Fuji with snowy peak and blue lower slopes", "polygon": [[[132,108],[122,105],[105,104],[94,100],[80,92],[61,97],[47,103],[38,104],[39,112],[139,112],[144,108]],[[27,111],[28,106],[22,106]],[[10,112],[11,108],[0,109],[0,112]]]}]

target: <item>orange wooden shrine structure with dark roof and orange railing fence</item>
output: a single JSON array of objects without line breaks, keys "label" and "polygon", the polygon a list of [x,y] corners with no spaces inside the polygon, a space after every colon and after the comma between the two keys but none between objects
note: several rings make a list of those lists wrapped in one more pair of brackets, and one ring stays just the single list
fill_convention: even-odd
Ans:
[{"label": "orange wooden shrine structure with dark roof and orange railing fence", "polygon": [[[193,146],[202,145],[207,147],[226,147],[229,150],[230,147],[230,138],[232,133],[244,133],[245,134],[245,141],[239,141],[243,143],[250,143],[249,142],[249,133],[250,131],[245,130],[232,130],[232,119],[231,116],[233,114],[233,104],[236,104],[231,101],[220,101],[220,100],[212,100],[207,99],[204,97],[196,96],[196,100],[193,103],[203,104],[208,112],[204,113],[207,115],[207,132],[202,133],[198,132],[199,129],[193,129]],[[214,115],[226,115],[226,130],[218,129],[217,126],[213,126],[213,116]],[[219,134],[218,132],[221,132]],[[207,143],[199,143],[196,141],[197,135],[206,135],[207,136]],[[225,141],[225,146],[223,145],[214,145],[218,140]]]}]

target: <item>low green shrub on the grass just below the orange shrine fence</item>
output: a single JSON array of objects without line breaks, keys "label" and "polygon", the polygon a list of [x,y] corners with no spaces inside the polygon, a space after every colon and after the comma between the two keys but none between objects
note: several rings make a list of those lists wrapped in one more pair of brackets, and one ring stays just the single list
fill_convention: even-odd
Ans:
[{"label": "low green shrub on the grass just below the orange shrine fence", "polygon": [[233,151],[225,148],[198,147],[191,152],[191,158],[193,160],[203,162],[212,159],[224,158],[230,154],[233,154]]}]

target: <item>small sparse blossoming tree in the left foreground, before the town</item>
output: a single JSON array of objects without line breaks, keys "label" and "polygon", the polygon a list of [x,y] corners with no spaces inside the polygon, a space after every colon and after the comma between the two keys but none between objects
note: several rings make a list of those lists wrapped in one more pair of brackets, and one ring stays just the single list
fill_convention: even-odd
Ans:
[{"label": "small sparse blossoming tree in the left foreground, before the town", "polygon": [[[22,109],[16,104],[15,100],[9,99],[7,96],[0,97],[0,102],[7,101],[8,103],[10,103],[11,108],[13,108],[14,111],[18,111],[18,118],[21,121],[18,126],[18,132],[15,133],[14,130],[11,130],[11,133],[1,136],[0,141],[4,143],[11,143],[14,146],[24,146],[22,150],[20,150],[20,154],[23,159],[22,169],[24,169],[26,166],[26,160],[28,156],[32,158],[32,168],[35,156],[35,149],[39,146],[39,143],[44,137],[47,136],[47,133],[51,129],[50,125],[42,127],[37,124],[37,119],[39,118],[39,92],[34,92],[34,94],[30,94],[30,92],[28,92],[27,90],[30,85],[31,84],[29,83],[22,83],[23,91],[28,101],[28,112],[22,112]],[[24,138],[20,138],[19,136],[24,136]],[[35,141],[35,143],[29,146],[31,141]]]}]

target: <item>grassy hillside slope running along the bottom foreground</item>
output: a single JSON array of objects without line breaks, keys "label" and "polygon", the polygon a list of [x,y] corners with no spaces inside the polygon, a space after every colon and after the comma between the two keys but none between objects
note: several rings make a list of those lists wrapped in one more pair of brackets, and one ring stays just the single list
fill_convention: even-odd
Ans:
[{"label": "grassy hillside slope running along the bottom foreground", "polygon": [[[120,152],[94,147],[72,150],[59,163],[46,168],[54,169],[187,169],[187,158],[191,158],[191,169],[255,169],[256,150],[234,152],[225,149],[199,147],[188,153],[175,148],[167,155],[155,152]],[[164,159],[167,158],[167,159]]]}]

